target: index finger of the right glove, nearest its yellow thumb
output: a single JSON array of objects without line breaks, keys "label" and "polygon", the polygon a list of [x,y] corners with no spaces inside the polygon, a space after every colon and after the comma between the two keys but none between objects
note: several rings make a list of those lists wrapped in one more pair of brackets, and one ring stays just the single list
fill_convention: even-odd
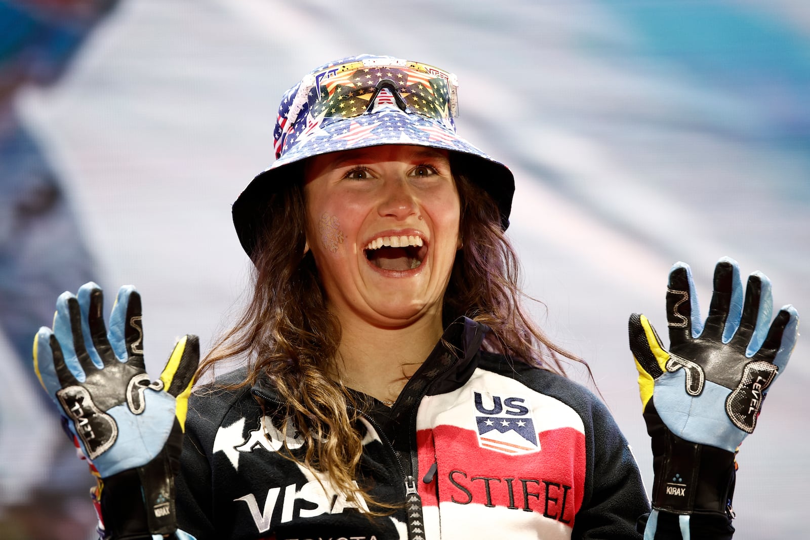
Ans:
[{"label": "index finger of the right glove, nearest its yellow thumb", "polygon": [[669,271],[667,285],[667,325],[669,346],[697,338],[703,330],[700,321],[692,269],[685,262],[676,262]]}]

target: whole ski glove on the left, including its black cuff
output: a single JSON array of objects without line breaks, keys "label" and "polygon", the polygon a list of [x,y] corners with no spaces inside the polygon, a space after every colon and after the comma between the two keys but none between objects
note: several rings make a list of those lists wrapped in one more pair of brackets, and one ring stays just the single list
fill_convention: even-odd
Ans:
[{"label": "whole ski glove on the left, including its black cuff", "polygon": [[86,283],[59,296],[53,330],[34,340],[34,369],[100,476],[105,537],[151,538],[177,529],[174,477],[199,340],[187,335],[157,381],[143,363],[140,295],[121,287],[104,326],[103,296]]}]

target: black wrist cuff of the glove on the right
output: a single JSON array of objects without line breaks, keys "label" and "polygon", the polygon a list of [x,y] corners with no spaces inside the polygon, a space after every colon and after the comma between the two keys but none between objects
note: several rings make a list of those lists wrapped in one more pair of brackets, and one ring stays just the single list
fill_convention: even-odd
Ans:
[{"label": "black wrist cuff of the glove on the right", "polygon": [[653,449],[653,507],[679,514],[715,512],[730,521],[735,454],[676,436],[660,419],[652,400],[644,416]]}]

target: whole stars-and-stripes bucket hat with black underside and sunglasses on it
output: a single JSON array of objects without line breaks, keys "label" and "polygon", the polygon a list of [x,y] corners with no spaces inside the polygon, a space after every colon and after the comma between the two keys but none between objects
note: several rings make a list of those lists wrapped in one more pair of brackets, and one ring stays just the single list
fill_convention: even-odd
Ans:
[{"label": "whole stars-and-stripes bucket hat with black underside and sunglasses on it", "polygon": [[384,144],[441,148],[467,159],[471,181],[509,226],[514,176],[456,134],[458,79],[428,64],[361,54],[319,66],[284,93],[273,132],[275,162],[233,203],[233,224],[252,256],[267,198],[291,181],[289,165],[314,155]]}]

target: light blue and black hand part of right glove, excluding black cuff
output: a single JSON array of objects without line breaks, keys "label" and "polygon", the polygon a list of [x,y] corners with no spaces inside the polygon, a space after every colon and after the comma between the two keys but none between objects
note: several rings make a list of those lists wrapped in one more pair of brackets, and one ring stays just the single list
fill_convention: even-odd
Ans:
[{"label": "light blue and black hand part of right glove, excluding black cuff", "polygon": [[793,306],[784,306],[773,324],[772,311],[770,280],[751,274],[743,301],[740,269],[723,257],[702,325],[689,265],[676,263],[667,288],[669,351],[646,317],[631,317],[642,406],[654,396],[655,409],[676,436],[735,452],[756,427],[762,399],[798,336]]}]

